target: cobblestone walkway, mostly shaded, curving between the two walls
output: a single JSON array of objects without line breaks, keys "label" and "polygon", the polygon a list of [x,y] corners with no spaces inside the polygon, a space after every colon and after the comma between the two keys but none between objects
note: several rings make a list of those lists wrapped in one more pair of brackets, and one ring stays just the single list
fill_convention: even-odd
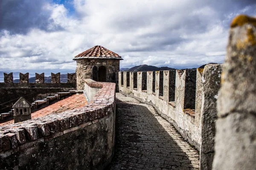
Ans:
[{"label": "cobblestone walkway, mostly shaded, curving between the two walls", "polygon": [[107,170],[199,170],[198,152],[157,111],[116,93],[116,150]]}]

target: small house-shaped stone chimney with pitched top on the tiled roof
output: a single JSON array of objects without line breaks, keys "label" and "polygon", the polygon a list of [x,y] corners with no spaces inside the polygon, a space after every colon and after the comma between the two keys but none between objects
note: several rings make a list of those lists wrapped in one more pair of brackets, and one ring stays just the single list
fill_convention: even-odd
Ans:
[{"label": "small house-shaped stone chimney with pitched top on the tiled roof", "polygon": [[14,123],[31,119],[31,104],[23,97],[20,97],[12,108],[14,109]]}]

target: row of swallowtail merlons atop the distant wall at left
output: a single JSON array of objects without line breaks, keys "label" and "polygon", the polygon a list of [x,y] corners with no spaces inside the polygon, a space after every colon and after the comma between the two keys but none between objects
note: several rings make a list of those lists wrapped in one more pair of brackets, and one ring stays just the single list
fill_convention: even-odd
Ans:
[{"label": "row of swallowtail merlons atop the distant wall at left", "polygon": [[[13,77],[13,73],[3,73],[3,82],[0,82],[0,83],[14,83],[14,78]],[[18,78],[18,77],[16,77]],[[67,74],[67,78],[64,78],[64,82],[66,83],[76,83],[76,74]],[[22,74],[20,73],[20,76],[19,76],[19,82],[18,83],[64,83],[64,82],[61,82],[61,73],[57,73],[57,74],[51,74],[51,81],[47,81],[45,82],[45,79],[44,79],[44,73],[42,74],[38,74],[38,73],[35,73],[35,82],[30,82],[29,81],[29,73],[26,73],[26,74]]]}]

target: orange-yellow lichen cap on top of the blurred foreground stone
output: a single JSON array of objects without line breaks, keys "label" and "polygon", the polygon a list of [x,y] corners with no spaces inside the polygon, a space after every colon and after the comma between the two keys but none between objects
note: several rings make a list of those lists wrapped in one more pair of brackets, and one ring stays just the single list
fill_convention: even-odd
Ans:
[{"label": "orange-yellow lichen cap on top of the blurred foreground stone", "polygon": [[250,23],[253,26],[256,26],[256,18],[249,17],[247,15],[239,15],[233,19],[233,21],[230,24],[230,27],[234,28],[237,26],[243,26],[246,23]]}]

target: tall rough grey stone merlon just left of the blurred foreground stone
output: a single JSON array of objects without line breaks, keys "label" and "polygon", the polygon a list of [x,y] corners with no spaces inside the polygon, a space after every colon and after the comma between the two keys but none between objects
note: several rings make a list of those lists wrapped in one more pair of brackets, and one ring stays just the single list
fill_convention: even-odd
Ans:
[{"label": "tall rough grey stone merlon just left of the blurred foreground stone", "polygon": [[201,112],[200,168],[211,170],[214,156],[217,99],[221,82],[222,65],[208,64],[204,67]]}]

